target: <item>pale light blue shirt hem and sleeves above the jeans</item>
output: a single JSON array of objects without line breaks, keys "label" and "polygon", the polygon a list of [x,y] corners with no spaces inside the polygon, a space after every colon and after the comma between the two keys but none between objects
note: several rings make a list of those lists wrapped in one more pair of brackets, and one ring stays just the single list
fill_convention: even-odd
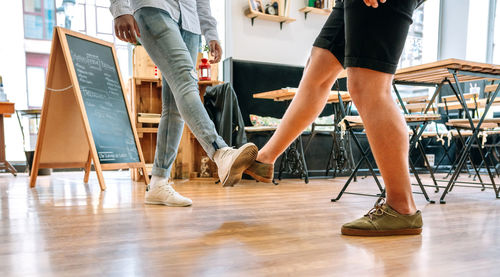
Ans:
[{"label": "pale light blue shirt hem and sleeves above the jeans", "polygon": [[203,34],[207,42],[219,40],[217,20],[212,16],[210,0],[111,0],[109,10],[114,18],[133,14],[143,7],[164,10],[177,22],[182,16],[182,29]]}]

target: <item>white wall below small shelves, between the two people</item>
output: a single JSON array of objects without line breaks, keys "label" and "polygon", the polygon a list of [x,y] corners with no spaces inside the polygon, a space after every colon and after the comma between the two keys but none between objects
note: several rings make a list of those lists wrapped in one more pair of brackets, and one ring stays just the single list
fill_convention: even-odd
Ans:
[{"label": "white wall below small shelves, between the two people", "polygon": [[[266,2],[266,1],[264,1]],[[312,44],[327,16],[309,14],[300,8],[306,1],[293,0],[290,17],[296,21],[283,24],[255,19],[254,26],[244,14],[247,0],[226,0],[226,57],[234,59],[304,66]]]}]

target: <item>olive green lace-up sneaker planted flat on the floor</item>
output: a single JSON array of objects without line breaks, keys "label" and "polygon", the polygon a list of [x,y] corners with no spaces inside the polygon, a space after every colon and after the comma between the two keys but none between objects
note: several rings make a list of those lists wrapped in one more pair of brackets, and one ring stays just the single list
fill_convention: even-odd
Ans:
[{"label": "olive green lace-up sneaker planted flat on the floor", "polygon": [[422,213],[402,215],[379,198],[362,218],[344,224],[341,232],[348,236],[394,236],[422,233]]}]

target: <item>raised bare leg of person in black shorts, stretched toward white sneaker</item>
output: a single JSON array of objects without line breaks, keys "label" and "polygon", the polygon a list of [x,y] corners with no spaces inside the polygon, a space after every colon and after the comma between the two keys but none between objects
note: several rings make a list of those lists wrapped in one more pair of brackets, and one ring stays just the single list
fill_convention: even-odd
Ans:
[{"label": "raised bare leg of person in black shorts, stretched toward white sneaker", "polygon": [[313,47],[297,95],[274,135],[259,151],[257,161],[274,164],[279,155],[318,117],[342,69],[330,51]]}]

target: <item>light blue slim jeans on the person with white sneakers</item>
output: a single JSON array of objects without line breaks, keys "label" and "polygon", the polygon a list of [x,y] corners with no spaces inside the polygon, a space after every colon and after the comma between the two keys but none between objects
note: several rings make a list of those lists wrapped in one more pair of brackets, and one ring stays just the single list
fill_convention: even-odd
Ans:
[{"label": "light blue slim jeans on the person with white sneakers", "polygon": [[184,129],[184,120],[210,158],[226,147],[200,101],[195,61],[200,35],[181,29],[170,15],[141,8],[134,17],[141,43],[163,75],[162,113],[152,174],[169,177]]}]

